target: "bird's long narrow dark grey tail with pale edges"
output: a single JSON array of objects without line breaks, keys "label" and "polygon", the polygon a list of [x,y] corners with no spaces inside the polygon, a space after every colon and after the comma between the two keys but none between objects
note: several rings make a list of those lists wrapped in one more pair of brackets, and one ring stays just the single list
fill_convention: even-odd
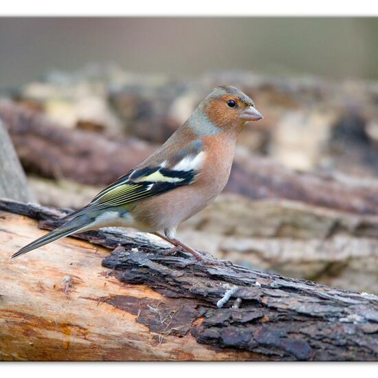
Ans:
[{"label": "bird's long narrow dark grey tail with pale edges", "polygon": [[88,216],[77,216],[76,218],[71,219],[70,221],[65,223],[64,225],[61,225],[56,230],[49,232],[44,236],[41,236],[41,238],[36,239],[28,245],[25,245],[25,247],[22,247],[19,251],[12,254],[11,258],[16,258],[18,256],[21,256],[21,254],[26,254],[27,252],[30,252],[33,249],[42,247],[42,245],[51,243],[52,241],[56,241],[60,238],[64,238],[65,236],[69,236],[71,234],[76,234],[76,232],[91,230],[90,223],[91,221],[89,221]]}]

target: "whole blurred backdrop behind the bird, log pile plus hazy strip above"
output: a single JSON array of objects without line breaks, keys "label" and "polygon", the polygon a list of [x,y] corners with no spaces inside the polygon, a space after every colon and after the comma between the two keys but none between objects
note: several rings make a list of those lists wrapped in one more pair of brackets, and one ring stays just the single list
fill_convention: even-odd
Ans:
[{"label": "whole blurred backdrop behind the bird, log pile plus hazy strip above", "polygon": [[373,18],[0,19],[0,120],[33,200],[78,208],[239,87],[265,119],[179,237],[378,293],[377,45]]}]

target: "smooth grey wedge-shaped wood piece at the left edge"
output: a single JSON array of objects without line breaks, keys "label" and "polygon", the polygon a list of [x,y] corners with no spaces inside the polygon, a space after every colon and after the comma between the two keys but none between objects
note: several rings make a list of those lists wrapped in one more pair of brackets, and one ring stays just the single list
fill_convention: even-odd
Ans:
[{"label": "smooth grey wedge-shaped wood piece at the left edge", "polygon": [[0,197],[32,201],[25,173],[14,151],[12,141],[0,120]]}]

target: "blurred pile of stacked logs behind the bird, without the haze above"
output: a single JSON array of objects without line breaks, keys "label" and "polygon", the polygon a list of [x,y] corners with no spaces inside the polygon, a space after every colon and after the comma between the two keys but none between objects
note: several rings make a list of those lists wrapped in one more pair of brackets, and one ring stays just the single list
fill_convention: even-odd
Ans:
[{"label": "blurred pile of stacked logs behind the bird, without the haze above", "polygon": [[36,200],[79,208],[219,84],[252,96],[265,120],[245,127],[225,194],[180,226],[180,238],[244,266],[378,293],[374,82],[83,70],[25,85],[0,101],[0,118]]}]

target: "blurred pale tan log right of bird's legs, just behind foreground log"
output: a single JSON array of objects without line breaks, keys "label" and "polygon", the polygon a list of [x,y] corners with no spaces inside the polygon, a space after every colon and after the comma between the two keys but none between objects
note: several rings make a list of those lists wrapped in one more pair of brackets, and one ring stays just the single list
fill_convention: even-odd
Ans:
[{"label": "blurred pale tan log right of bird's legs, just behind foreground log", "polygon": [[378,294],[378,216],[221,194],[180,225],[197,249],[240,265]]}]

